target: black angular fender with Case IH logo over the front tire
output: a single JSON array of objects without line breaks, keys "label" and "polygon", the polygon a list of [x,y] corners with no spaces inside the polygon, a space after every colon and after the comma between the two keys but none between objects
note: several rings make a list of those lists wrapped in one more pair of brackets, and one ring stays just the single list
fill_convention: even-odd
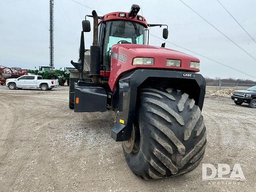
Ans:
[{"label": "black angular fender with Case IH logo over the front tire", "polygon": [[118,82],[117,121],[111,130],[115,141],[129,140],[136,110],[137,89],[174,88],[186,92],[202,111],[206,81],[201,74],[170,70],[138,69],[124,74]]}]

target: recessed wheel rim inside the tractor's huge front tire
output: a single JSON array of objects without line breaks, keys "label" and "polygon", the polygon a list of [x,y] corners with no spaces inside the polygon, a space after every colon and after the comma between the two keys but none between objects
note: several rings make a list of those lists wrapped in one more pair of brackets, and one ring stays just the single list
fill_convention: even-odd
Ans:
[{"label": "recessed wheel rim inside the tractor's huge front tire", "polygon": [[140,140],[141,140],[141,130],[140,123],[138,119],[135,118],[132,125],[132,134],[131,138],[128,141],[123,141],[123,148],[126,153],[136,153],[140,149]]}]

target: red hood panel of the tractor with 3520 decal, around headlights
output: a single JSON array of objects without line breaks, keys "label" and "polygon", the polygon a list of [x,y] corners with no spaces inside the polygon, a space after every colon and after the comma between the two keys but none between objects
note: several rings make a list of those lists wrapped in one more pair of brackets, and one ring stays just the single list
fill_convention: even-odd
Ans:
[{"label": "red hood panel of the tractor with 3520 decal, around headlights", "polygon": [[[154,65],[132,65],[133,59],[137,57],[154,58]],[[180,60],[180,67],[166,66],[166,59]],[[120,78],[121,74],[138,68],[199,72],[199,69],[190,68],[191,61],[200,62],[196,57],[168,48],[138,44],[116,44],[112,46],[108,84],[111,90],[114,90],[116,80]]]}]

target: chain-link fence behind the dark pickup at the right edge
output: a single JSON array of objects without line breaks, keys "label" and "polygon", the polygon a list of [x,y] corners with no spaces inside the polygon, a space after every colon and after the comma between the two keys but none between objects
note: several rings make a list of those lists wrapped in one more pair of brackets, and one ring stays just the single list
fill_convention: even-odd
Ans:
[{"label": "chain-link fence behind the dark pickup at the right edge", "polygon": [[226,83],[226,82],[213,82],[206,83],[206,92],[216,92],[222,89],[234,89],[234,90],[246,90],[256,84],[244,84],[244,83]]}]

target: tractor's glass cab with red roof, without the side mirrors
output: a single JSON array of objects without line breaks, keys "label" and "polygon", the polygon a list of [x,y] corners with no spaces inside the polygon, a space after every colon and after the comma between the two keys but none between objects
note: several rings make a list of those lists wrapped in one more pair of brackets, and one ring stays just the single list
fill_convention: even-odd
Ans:
[{"label": "tractor's glass cab with red roof, without the side mirrors", "polygon": [[[126,15],[128,13],[124,12],[107,14],[103,16],[98,26],[101,63],[107,71],[110,70],[111,48],[113,45],[146,44],[146,20],[137,22],[134,19],[129,20]],[[143,17],[139,17],[143,20]],[[127,20],[124,20],[124,18]]]}]

